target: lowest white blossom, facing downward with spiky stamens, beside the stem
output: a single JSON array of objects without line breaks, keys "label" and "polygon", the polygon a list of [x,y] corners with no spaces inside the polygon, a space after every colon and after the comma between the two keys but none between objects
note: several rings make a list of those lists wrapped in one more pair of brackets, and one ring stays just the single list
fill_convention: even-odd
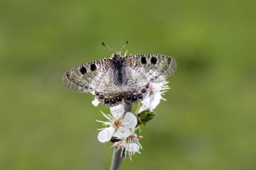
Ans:
[{"label": "lowest white blossom, facing downward with spiky stamens, beside the stem", "polygon": [[139,150],[142,148],[142,145],[139,143],[139,140],[142,140],[142,136],[137,137],[136,134],[131,134],[121,141],[115,142],[114,146],[118,149],[122,149],[122,153],[125,154],[125,157],[128,152],[131,160],[131,156],[133,156],[135,152],[140,153]]}]

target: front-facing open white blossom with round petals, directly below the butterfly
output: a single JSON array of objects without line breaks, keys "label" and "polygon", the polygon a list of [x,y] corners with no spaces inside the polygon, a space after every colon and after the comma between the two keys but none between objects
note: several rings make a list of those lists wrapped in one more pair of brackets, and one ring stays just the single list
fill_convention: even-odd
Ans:
[{"label": "front-facing open white blossom with round petals, directly below the butterfly", "polygon": [[108,121],[101,122],[106,128],[101,128],[98,133],[98,140],[102,143],[110,141],[112,137],[125,138],[134,133],[134,128],[137,125],[137,117],[133,113],[125,113],[122,105],[117,105],[110,108],[112,115],[102,113]]}]

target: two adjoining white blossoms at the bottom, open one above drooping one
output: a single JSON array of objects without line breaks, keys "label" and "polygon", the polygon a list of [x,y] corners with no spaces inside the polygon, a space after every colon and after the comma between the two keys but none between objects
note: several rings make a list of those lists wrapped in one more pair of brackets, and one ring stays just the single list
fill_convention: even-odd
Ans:
[{"label": "two adjoining white blossoms at the bottom, open one above drooping one", "polygon": [[111,114],[102,113],[107,121],[98,121],[105,126],[99,129],[98,140],[106,143],[111,139],[117,140],[114,146],[121,148],[123,152],[129,152],[129,156],[139,152],[142,148],[139,144],[139,138],[134,133],[138,124],[137,117],[130,112],[125,113],[123,105],[117,105],[110,108]]}]

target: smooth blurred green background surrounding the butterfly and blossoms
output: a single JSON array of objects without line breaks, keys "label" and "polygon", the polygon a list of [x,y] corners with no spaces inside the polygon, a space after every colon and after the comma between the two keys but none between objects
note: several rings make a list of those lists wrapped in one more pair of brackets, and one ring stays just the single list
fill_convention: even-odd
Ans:
[{"label": "smooth blurred green background surrounding the butterfly and blossoms", "polygon": [[122,169],[256,169],[255,1],[0,2],[0,169],[108,169],[93,97],[61,83],[102,41],[178,62]]}]

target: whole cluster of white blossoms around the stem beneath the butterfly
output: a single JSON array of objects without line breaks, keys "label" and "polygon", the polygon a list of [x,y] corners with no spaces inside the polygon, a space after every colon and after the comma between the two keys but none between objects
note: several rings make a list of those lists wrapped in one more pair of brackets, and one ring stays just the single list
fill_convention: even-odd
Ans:
[{"label": "whole cluster of white blossoms around the stem beneath the butterfly", "polygon": [[[161,100],[165,100],[162,95],[169,89],[167,82],[150,83],[150,92],[139,105],[137,113],[125,112],[123,105],[110,107],[110,114],[102,113],[107,121],[98,121],[102,123],[103,128],[100,128],[98,133],[98,140],[102,143],[112,141],[113,146],[122,149],[122,153],[128,153],[129,156],[134,155],[135,152],[140,153],[142,145],[139,143],[142,136],[138,136],[135,128],[140,123],[152,119],[146,119],[142,116],[148,117],[148,113],[153,113],[154,109],[159,105]],[[92,101],[94,106],[99,104],[95,98]],[[151,115],[152,116],[152,115]]]}]

